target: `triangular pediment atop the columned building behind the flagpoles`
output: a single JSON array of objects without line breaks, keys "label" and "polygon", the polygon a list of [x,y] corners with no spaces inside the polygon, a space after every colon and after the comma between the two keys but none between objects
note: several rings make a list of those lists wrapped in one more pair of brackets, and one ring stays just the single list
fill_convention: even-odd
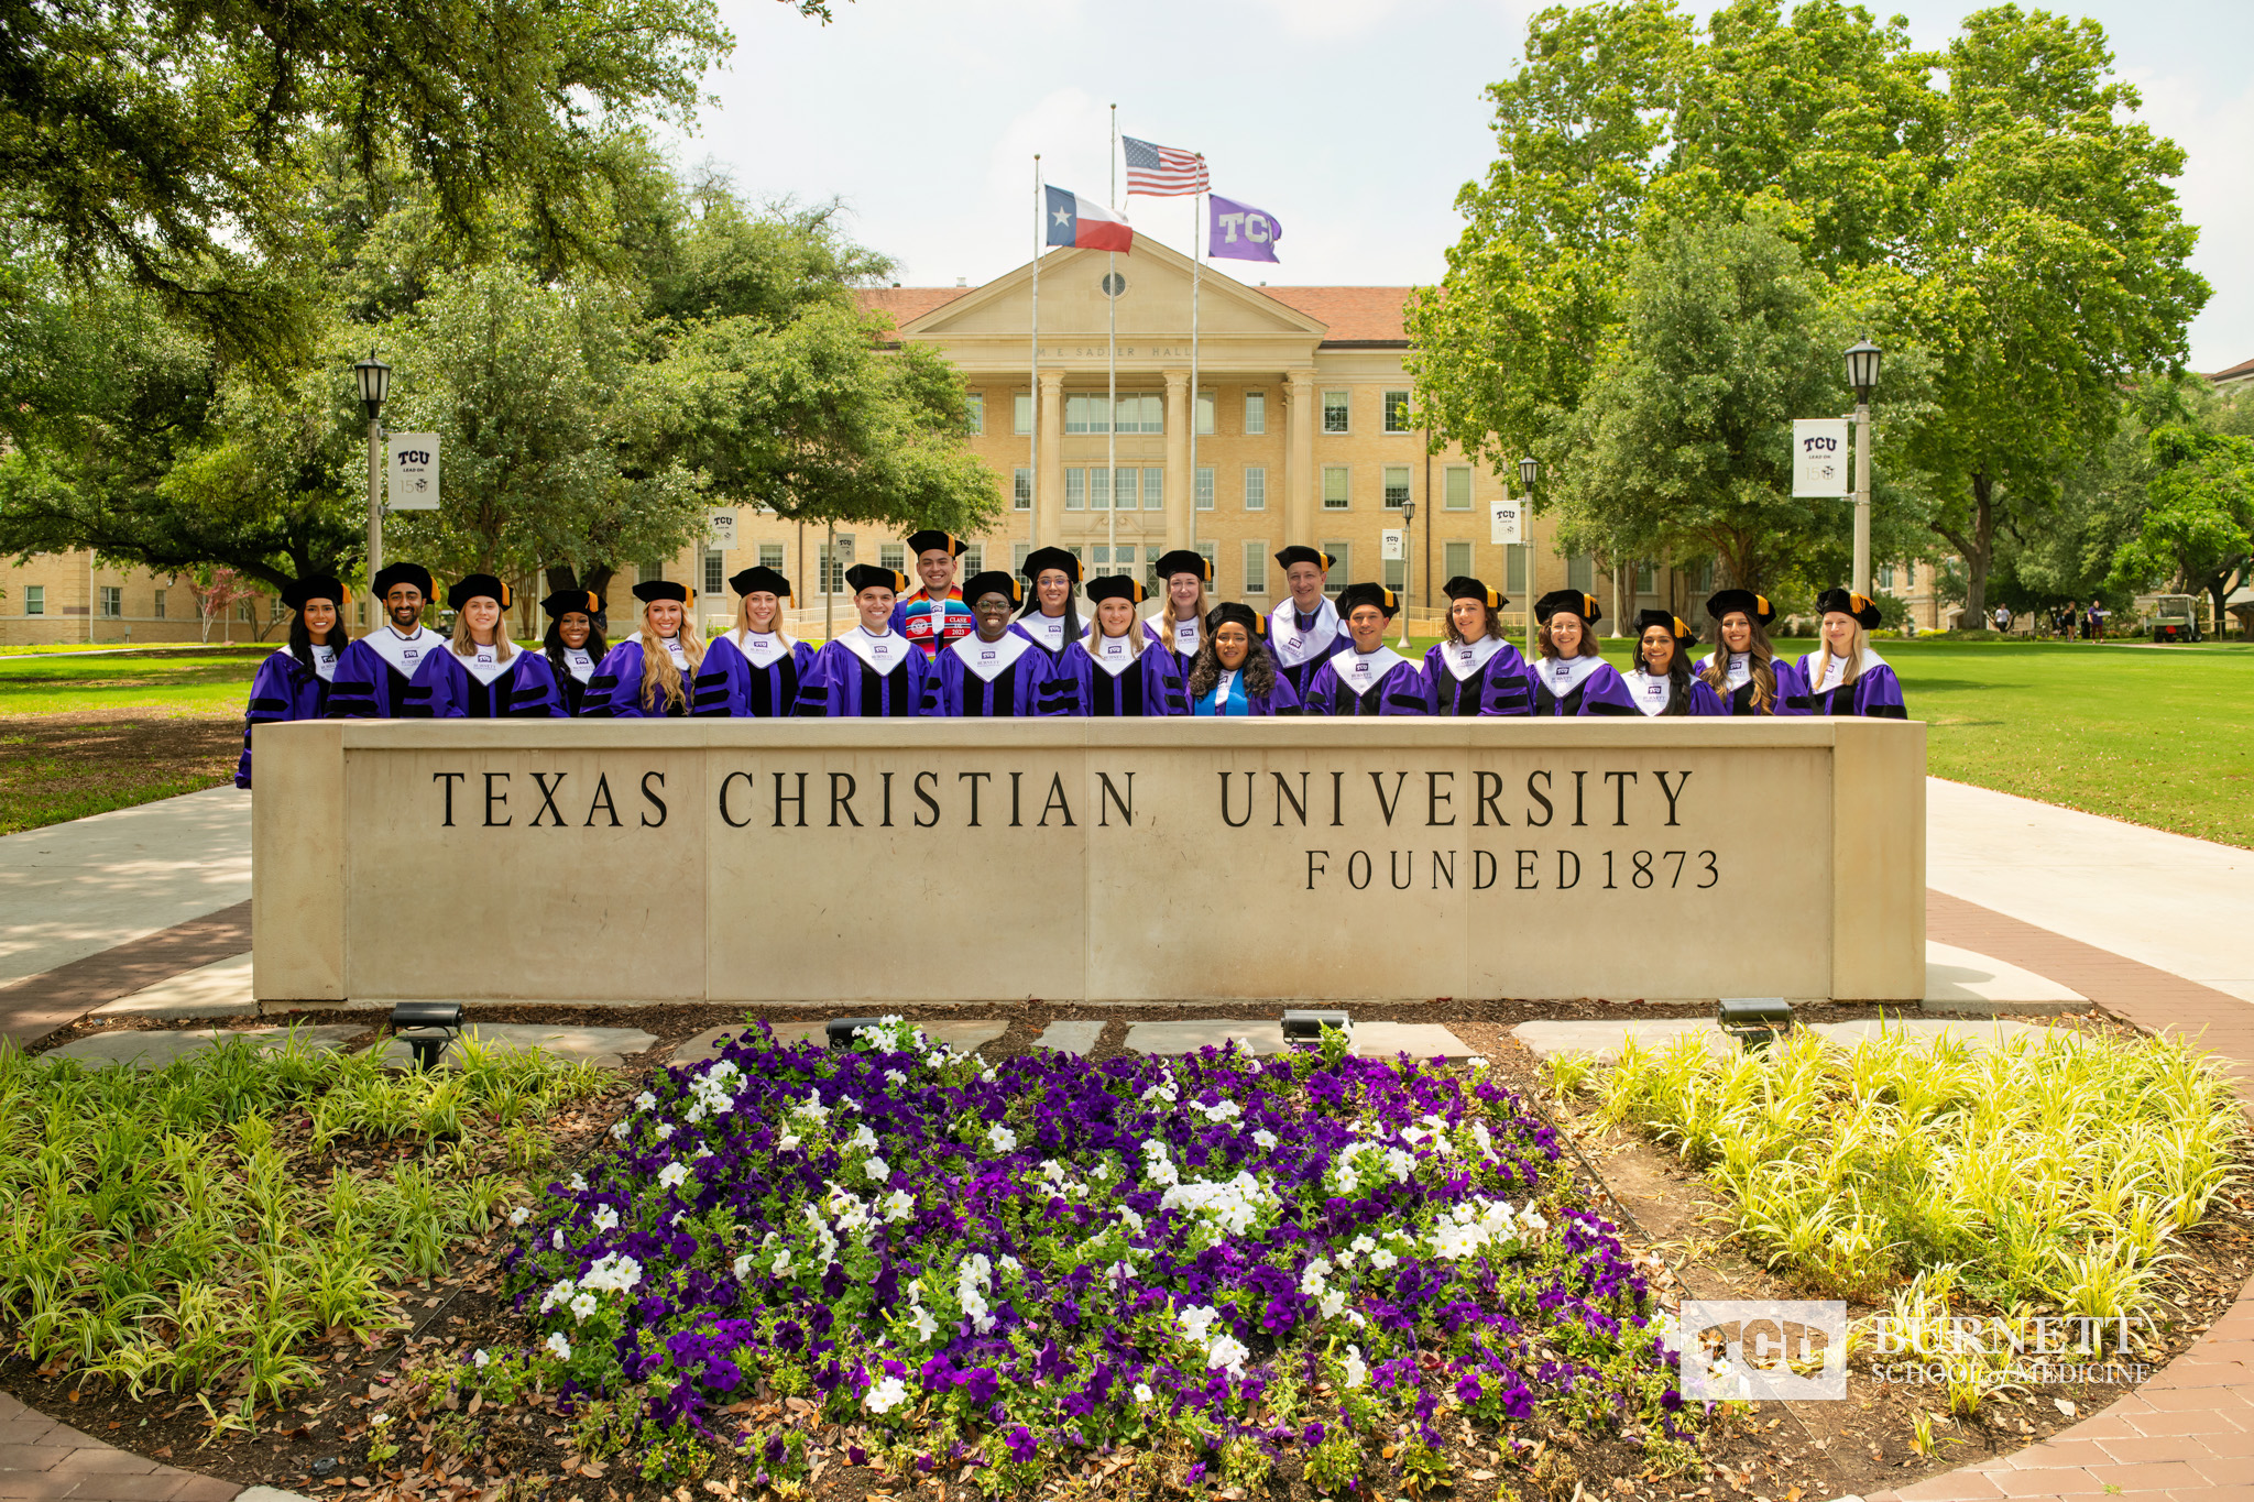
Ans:
[{"label": "triangular pediment atop the columned building behind the flagpoles", "polygon": [[[1104,250],[1050,250],[1041,270],[1041,340],[1089,336],[1109,327],[1109,299],[1102,281],[1107,270],[1127,279],[1118,297],[1118,333],[1122,340],[1179,336],[1190,327],[1190,257],[1170,245],[1136,236],[1134,250],[1113,257]],[[1028,261],[980,288],[953,297],[899,327],[899,338],[915,342],[956,340],[1023,340],[1032,327],[1035,263]],[[1316,318],[1287,309],[1255,286],[1219,272],[1213,263],[1197,270],[1197,327],[1213,340],[1310,340],[1328,331]]]}]

